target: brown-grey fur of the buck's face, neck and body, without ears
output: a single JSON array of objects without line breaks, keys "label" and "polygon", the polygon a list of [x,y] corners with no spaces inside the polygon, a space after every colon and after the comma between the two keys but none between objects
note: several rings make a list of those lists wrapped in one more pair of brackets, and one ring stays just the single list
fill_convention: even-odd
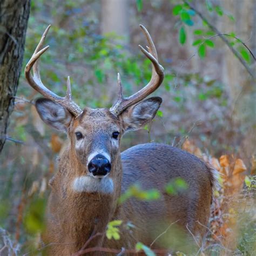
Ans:
[{"label": "brown-grey fur of the buck's face, neck and body, without ears", "polygon": [[[52,192],[46,214],[47,228],[44,235],[49,246],[49,255],[70,255],[80,250],[91,235],[105,232],[106,225],[113,219],[130,221],[135,228],[121,229],[120,240],[108,240],[105,236],[93,239],[89,247],[134,248],[136,242],[150,246],[154,238],[174,221],[174,230],[187,238],[187,228],[200,240],[210,215],[212,197],[211,170],[197,157],[165,144],[143,144],[131,147],[120,154],[119,147],[111,146],[107,136],[113,130],[122,130],[122,117],[115,117],[109,110],[86,109],[69,124],[69,144],[60,156],[58,172],[51,181]],[[76,149],[74,132],[83,131],[85,143]],[[104,147],[111,154],[114,192],[76,192],[72,189],[75,177],[85,175],[86,156],[95,147]],[[165,192],[165,185],[173,178],[181,177],[188,188],[178,195]],[[147,190],[161,191],[159,200],[141,201],[134,198],[118,205],[117,200],[130,185],[139,183]],[[176,229],[175,229],[176,228]],[[171,230],[171,228],[170,228]],[[180,231],[181,230],[181,231]],[[172,232],[158,239],[153,248],[186,250],[177,243]],[[189,235],[188,235],[189,237]],[[179,238],[181,239],[181,238]],[[166,241],[167,240],[167,241]],[[184,240],[185,241],[185,240]],[[92,255],[96,255],[93,253]]]}]

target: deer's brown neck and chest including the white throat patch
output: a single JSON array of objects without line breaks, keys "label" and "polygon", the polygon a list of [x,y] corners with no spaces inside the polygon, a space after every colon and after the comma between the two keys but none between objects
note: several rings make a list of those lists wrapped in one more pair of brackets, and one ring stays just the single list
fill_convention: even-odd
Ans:
[{"label": "deer's brown neck and chest including the white throat patch", "polygon": [[[66,234],[65,241],[73,241],[75,248],[82,247],[94,233],[104,232],[114,216],[122,184],[120,153],[112,163],[107,180],[86,178],[85,173],[85,166],[76,160],[72,151],[66,150],[60,157],[49,202],[50,208],[57,209],[51,215]],[[99,244],[96,239],[95,245]]]}]

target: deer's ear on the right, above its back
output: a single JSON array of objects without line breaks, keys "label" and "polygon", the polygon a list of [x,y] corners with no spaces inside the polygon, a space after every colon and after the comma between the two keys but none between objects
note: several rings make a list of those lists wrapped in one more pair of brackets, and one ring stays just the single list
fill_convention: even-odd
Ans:
[{"label": "deer's ear on the right, above its back", "polygon": [[139,102],[137,105],[128,107],[119,116],[120,120],[122,120],[124,131],[139,130],[150,123],[156,116],[161,102],[162,99],[160,97],[152,97]]}]

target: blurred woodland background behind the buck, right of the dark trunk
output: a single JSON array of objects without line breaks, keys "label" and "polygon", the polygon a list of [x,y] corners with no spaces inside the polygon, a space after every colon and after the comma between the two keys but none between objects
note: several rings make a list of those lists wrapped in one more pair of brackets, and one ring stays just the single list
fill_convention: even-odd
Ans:
[{"label": "blurred woodland background behind the buck, right of the dark trunk", "polygon": [[[255,60],[244,45],[256,55],[255,23],[254,0],[32,1],[22,76],[8,127],[13,140],[6,140],[0,156],[0,226],[10,239],[24,252],[28,241],[38,239],[47,183],[66,139],[39,118],[33,100],[40,95],[23,75],[48,24],[52,26],[45,45],[50,49],[40,64],[43,83],[63,96],[70,76],[76,103],[93,108],[112,105],[117,72],[125,96],[150,79],[150,61],[138,48],[146,45],[139,24],[146,26],[165,68],[165,80],[153,93],[163,104],[151,126],[124,136],[122,149],[147,142],[193,145],[208,158],[242,159],[243,175],[249,177],[255,168],[255,79],[228,45],[255,76]],[[228,45],[214,36],[215,29],[228,34]]]}]

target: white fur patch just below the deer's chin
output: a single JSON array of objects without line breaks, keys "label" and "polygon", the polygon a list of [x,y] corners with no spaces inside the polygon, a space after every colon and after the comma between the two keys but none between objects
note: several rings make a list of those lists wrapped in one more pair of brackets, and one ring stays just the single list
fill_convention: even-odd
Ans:
[{"label": "white fur patch just below the deer's chin", "polygon": [[113,180],[107,176],[80,176],[73,181],[73,190],[76,192],[113,193]]}]

